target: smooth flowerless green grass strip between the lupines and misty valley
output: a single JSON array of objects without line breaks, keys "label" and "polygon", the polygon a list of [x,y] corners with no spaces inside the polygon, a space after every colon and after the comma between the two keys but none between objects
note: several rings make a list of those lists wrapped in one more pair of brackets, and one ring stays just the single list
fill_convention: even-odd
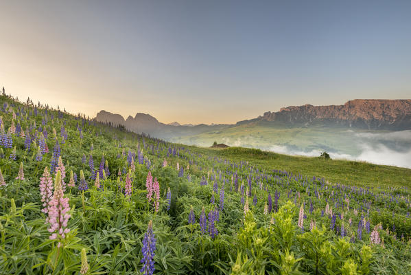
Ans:
[{"label": "smooth flowerless green grass strip between the lupines and misty valley", "polygon": [[319,157],[282,155],[253,148],[196,148],[193,150],[224,159],[245,160],[269,170],[287,170],[307,177],[324,177],[333,183],[378,188],[411,186],[411,169],[408,168],[347,160],[325,160]]}]

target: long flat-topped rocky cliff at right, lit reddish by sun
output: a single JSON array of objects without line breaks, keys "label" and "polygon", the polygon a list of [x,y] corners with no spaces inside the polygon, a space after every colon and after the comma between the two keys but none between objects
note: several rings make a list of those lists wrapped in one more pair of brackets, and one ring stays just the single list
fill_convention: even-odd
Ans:
[{"label": "long flat-topped rocky cliff at right, lit reddish by sun", "polygon": [[344,105],[290,106],[266,112],[254,120],[239,122],[321,123],[325,126],[351,126],[362,129],[411,129],[411,100],[350,100]]}]

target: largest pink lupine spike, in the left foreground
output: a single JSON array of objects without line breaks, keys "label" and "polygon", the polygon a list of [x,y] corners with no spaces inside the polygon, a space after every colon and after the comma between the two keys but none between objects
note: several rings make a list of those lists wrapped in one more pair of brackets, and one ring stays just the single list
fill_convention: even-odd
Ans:
[{"label": "largest pink lupine spike, in the left foreground", "polygon": [[62,180],[60,170],[56,175],[54,181],[54,195],[53,199],[49,202],[49,232],[52,233],[49,236],[51,240],[58,240],[57,247],[60,248],[61,241],[66,238],[66,234],[70,232],[67,228],[67,223],[71,217],[69,198],[64,198],[64,192],[62,190]]}]

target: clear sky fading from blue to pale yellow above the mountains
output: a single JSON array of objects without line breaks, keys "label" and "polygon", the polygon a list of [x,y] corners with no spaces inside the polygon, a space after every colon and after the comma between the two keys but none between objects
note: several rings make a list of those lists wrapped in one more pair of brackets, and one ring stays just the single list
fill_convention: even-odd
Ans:
[{"label": "clear sky fading from blue to pale yellow above the mountains", "polygon": [[3,1],[0,86],[94,117],[235,123],[411,98],[411,1]]}]

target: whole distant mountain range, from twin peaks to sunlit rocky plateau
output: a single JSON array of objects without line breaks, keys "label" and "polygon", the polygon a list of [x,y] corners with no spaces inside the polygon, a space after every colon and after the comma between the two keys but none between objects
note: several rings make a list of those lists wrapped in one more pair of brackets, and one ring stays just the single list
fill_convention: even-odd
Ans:
[{"label": "whole distant mountain range, from twin peaks to sunlit rocky plateau", "polygon": [[381,129],[401,131],[411,129],[411,100],[349,100],[343,105],[290,106],[277,112],[266,112],[258,118],[243,120],[237,124],[185,124],[178,122],[164,124],[152,115],[136,113],[126,120],[116,113],[99,111],[96,115],[99,122],[111,122],[124,125],[136,133],[148,133],[156,137],[178,137],[197,135],[207,131],[222,131],[231,127],[250,124],[264,126],[347,126],[359,129]]}]

